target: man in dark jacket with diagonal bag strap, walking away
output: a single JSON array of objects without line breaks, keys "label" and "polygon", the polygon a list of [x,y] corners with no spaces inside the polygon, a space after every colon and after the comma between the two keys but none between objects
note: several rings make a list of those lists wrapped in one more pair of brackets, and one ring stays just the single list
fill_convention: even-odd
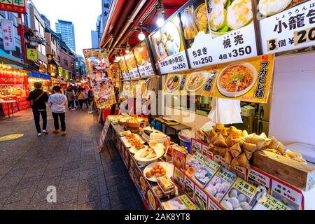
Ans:
[{"label": "man in dark jacket with diagonal bag strap, walking away", "polygon": [[[34,83],[35,90],[29,93],[27,101],[31,101],[31,108],[33,109],[34,121],[37,130],[37,135],[48,134],[47,128],[47,111],[46,111],[46,102],[48,102],[48,94],[41,90],[41,83]],[[41,132],[41,125],[39,123],[41,118],[43,118],[43,132]]]}]

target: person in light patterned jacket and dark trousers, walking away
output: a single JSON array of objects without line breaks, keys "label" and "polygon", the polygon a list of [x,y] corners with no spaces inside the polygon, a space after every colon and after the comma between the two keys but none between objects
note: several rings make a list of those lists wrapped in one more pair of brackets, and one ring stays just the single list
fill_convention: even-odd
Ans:
[{"label": "person in light patterned jacket and dark trousers, walking away", "polygon": [[60,92],[59,86],[55,86],[53,90],[54,94],[50,95],[48,104],[51,108],[52,118],[54,118],[54,133],[59,133],[60,119],[62,135],[66,135],[66,96]]}]

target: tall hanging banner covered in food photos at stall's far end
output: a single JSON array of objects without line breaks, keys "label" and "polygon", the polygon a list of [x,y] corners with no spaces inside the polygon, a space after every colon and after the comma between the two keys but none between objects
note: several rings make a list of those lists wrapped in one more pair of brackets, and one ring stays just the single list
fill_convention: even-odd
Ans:
[{"label": "tall hanging banner covered in food photos at stall's far end", "polygon": [[116,104],[115,90],[112,80],[108,78],[106,69],[109,68],[109,57],[106,50],[83,50],[87,69],[90,73],[90,83],[94,93],[97,108],[106,109]]}]

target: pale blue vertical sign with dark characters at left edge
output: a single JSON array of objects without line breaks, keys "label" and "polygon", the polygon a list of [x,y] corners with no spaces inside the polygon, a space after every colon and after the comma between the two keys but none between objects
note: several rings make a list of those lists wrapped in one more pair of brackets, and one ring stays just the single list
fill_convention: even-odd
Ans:
[{"label": "pale blue vertical sign with dark characters at left edge", "polygon": [[1,19],[1,29],[3,33],[4,50],[15,50],[15,35],[13,30],[13,21]]}]

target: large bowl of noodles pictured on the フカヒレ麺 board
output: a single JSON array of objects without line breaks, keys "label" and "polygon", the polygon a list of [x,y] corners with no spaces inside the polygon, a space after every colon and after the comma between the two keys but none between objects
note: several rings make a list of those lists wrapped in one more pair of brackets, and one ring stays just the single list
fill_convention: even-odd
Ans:
[{"label": "large bowl of noodles pictured on the \u30d5\u30ab\u30d2\u30ec\u9eba board", "polygon": [[217,87],[225,97],[246,94],[257,80],[255,67],[246,62],[236,62],[225,67],[217,79]]}]

